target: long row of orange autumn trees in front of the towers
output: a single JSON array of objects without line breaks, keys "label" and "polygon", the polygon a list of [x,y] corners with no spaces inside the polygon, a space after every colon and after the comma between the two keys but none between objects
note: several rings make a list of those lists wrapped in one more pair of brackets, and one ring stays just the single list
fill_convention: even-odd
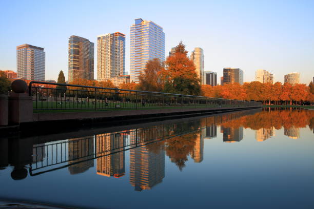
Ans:
[{"label": "long row of orange autumn trees in front of the towers", "polygon": [[[139,76],[140,82],[122,83],[115,87],[108,81],[77,79],[71,84],[84,86],[97,86],[105,88],[119,88],[128,90],[142,90],[152,92],[165,92],[186,95],[200,95],[215,98],[263,101],[264,104],[298,104],[312,103],[314,101],[314,85],[290,85],[290,83],[276,82],[261,83],[259,81],[226,84],[224,86],[201,85],[201,80],[195,72],[195,66],[188,57],[182,41],[175,48],[175,53],[167,57],[163,63],[158,58],[151,59],[146,69]],[[62,72],[61,72],[62,73]],[[60,75],[65,82],[64,75]],[[77,88],[71,88],[77,89]]]}]

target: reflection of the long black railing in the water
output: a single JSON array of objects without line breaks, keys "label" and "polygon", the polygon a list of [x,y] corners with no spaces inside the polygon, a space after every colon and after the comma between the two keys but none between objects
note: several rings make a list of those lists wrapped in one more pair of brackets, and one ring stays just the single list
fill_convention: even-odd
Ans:
[{"label": "reflection of the long black railing in the water", "polygon": [[[171,139],[176,136],[200,131],[202,127],[207,127],[211,126],[211,124],[219,124],[221,122],[233,120],[235,118],[239,118],[243,115],[254,112],[256,111],[241,111],[239,113],[231,113],[227,115],[223,114],[220,116],[213,116],[189,122],[167,125],[163,124],[161,126],[153,126],[150,128],[98,134],[95,136],[33,145],[33,155],[36,157],[33,157],[30,174],[38,175],[48,171],[65,168],[70,165],[75,165],[81,162],[90,161],[91,159],[123,152],[136,147],[141,147],[142,145],[146,145],[149,143],[165,139]],[[190,124],[183,127],[182,124],[184,123]],[[201,158],[199,159],[199,161],[201,161]],[[67,165],[56,167],[57,165],[66,162],[68,162]],[[93,166],[93,164],[86,164],[77,167],[80,167],[81,170],[87,170],[91,166]],[[44,169],[47,167],[51,167],[51,169],[49,169],[48,171],[42,171],[36,174],[32,174],[32,171],[38,171],[39,169]],[[75,174],[75,171],[72,171],[72,174]]]}]

